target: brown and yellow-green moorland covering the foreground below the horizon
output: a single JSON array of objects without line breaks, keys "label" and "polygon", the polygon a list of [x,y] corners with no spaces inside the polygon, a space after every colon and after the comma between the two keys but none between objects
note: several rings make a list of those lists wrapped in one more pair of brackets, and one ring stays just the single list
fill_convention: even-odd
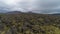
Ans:
[{"label": "brown and yellow-green moorland covering the foreground below the horizon", "polygon": [[60,16],[1,14],[0,34],[60,34]]}]

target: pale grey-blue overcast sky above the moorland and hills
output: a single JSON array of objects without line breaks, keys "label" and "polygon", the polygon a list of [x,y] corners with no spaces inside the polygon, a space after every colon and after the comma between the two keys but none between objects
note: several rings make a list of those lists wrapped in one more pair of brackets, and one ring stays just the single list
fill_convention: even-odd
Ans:
[{"label": "pale grey-blue overcast sky above the moorland and hills", "polygon": [[0,0],[0,12],[60,13],[60,0]]}]

